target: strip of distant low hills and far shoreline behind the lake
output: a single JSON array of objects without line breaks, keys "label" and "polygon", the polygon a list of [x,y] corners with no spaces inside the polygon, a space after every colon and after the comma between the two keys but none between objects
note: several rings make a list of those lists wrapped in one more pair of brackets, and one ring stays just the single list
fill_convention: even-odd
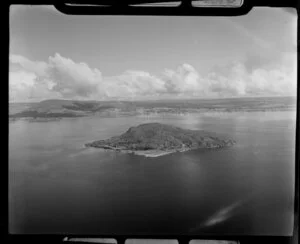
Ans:
[{"label": "strip of distant low hills and far shoreline behind the lake", "polygon": [[11,118],[79,117],[97,113],[151,114],[189,113],[203,111],[253,112],[287,111],[296,109],[294,97],[230,98],[230,99],[185,99],[157,101],[76,101],[45,100],[39,103],[12,103]]}]

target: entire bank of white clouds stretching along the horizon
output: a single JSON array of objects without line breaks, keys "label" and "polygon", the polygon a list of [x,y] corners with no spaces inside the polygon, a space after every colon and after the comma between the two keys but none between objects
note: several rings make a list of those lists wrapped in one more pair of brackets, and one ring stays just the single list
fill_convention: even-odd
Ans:
[{"label": "entire bank of white clouds stretching along the horizon", "polygon": [[[279,57],[279,56],[278,56]],[[274,61],[259,57],[214,67],[203,76],[190,64],[155,76],[127,70],[112,77],[83,62],[56,53],[47,62],[10,56],[9,89],[13,101],[67,98],[82,100],[158,99],[296,95],[296,58],[283,54]],[[15,67],[16,66],[16,67]]]}]

